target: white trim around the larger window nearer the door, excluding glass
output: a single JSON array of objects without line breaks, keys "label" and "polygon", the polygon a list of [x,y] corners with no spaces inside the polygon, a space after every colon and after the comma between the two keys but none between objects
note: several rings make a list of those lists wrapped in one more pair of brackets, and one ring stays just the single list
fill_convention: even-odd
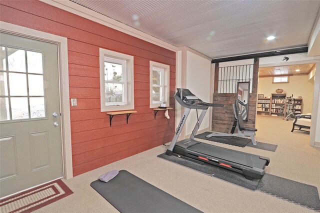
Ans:
[{"label": "white trim around the larger window nearer the door, excluding glass", "polygon": [[[120,60],[126,60],[126,72],[125,72],[125,86],[126,98],[124,98],[124,105],[105,105],[105,93],[104,93],[104,61],[105,57],[115,58]],[[118,111],[134,109],[134,79],[133,79],[133,56],[127,55],[108,49],[99,48],[99,65],[100,65],[100,108],[101,111]],[[117,103],[114,103],[117,104]]]}]

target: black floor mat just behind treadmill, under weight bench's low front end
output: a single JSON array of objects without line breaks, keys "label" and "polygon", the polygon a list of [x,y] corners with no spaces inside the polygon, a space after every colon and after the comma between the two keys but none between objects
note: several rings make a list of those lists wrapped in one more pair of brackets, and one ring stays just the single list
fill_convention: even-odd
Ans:
[{"label": "black floor mat just behind treadmill, under weight bench's low front end", "polygon": [[206,135],[211,134],[211,133],[212,132],[206,131],[201,134],[195,135],[195,137],[200,138],[200,139],[214,141],[214,142],[220,142],[220,143],[225,143],[225,144],[229,144],[229,145],[240,146],[240,147],[244,147],[244,146],[246,146],[246,144],[251,142],[251,139],[243,138],[243,137],[236,137],[236,136],[205,137]]}]

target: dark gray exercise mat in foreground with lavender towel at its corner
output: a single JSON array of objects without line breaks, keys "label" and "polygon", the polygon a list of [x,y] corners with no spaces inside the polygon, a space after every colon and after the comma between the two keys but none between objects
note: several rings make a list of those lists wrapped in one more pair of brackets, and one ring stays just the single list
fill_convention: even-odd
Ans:
[{"label": "dark gray exercise mat in foreground with lavender towel at its corner", "polygon": [[201,212],[126,170],[110,181],[90,184],[120,212]]}]

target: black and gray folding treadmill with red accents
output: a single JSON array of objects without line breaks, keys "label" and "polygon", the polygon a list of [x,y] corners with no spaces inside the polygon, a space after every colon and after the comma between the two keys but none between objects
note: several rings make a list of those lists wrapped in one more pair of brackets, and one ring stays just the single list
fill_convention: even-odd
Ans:
[{"label": "black and gray folding treadmill with red accents", "polygon": [[[247,179],[260,179],[263,176],[264,167],[270,162],[268,157],[202,143],[193,139],[208,107],[222,107],[223,104],[206,103],[186,88],[177,88],[174,98],[179,104],[185,107],[185,110],[169,148],[165,152],[166,155],[174,155],[201,164],[209,163],[217,165],[242,173]],[[178,136],[191,109],[201,109],[202,111],[190,138],[177,142]]]}]

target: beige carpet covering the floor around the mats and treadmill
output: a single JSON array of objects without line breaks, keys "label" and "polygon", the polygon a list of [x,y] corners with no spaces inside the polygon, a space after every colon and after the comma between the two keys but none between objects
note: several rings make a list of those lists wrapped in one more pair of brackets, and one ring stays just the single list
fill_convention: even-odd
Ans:
[{"label": "beige carpet covering the floor around the mats and treadmill", "polygon": [[[257,139],[278,144],[275,152],[222,143],[215,145],[267,156],[270,158],[267,173],[314,185],[319,190],[320,148],[309,146],[309,134],[290,132],[292,121],[278,117],[258,116],[256,122]],[[90,187],[90,182],[112,169],[128,170],[204,212],[312,212],[156,157],[165,149],[166,146],[161,145],[65,180],[73,194],[34,212],[118,212]]]}]

